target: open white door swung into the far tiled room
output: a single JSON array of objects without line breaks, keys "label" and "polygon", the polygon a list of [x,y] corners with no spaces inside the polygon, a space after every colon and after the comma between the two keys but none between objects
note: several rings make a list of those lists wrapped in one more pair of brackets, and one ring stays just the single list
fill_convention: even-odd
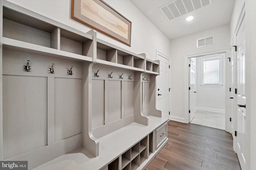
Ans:
[{"label": "open white door swung into the far tiled room", "polygon": [[189,59],[189,122],[195,117],[196,111],[196,59]]}]

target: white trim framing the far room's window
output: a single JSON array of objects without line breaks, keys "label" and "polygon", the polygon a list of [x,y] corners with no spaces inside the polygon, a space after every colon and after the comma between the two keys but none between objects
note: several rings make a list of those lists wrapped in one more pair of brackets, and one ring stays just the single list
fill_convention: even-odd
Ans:
[{"label": "white trim framing the far room's window", "polygon": [[[201,59],[201,86],[202,87],[222,87],[222,58],[224,57],[224,53],[221,54],[215,54],[215,55],[210,55],[207,57],[202,57]],[[211,61],[211,60],[220,60],[220,72],[219,72],[219,83],[216,84],[204,84],[204,61]]]}]

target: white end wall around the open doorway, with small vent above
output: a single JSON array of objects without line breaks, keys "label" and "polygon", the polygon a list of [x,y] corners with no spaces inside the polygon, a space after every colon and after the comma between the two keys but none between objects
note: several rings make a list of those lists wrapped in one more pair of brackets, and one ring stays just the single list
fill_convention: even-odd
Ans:
[{"label": "white end wall around the open doorway, with small vent above", "polygon": [[[195,55],[228,49],[230,42],[230,27],[224,25],[216,27],[208,31],[195,33],[186,37],[181,37],[171,41],[171,115],[172,119],[184,121],[184,84],[188,80],[184,80],[184,59],[187,55]],[[206,47],[196,47],[196,40],[214,35],[215,44]]]}]

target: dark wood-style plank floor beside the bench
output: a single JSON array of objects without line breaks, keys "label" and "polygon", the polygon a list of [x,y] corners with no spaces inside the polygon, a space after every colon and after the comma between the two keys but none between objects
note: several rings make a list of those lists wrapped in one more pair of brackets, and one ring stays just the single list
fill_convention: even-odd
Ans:
[{"label": "dark wood-style plank floor beside the bench", "polygon": [[168,138],[146,170],[241,170],[224,130],[169,121]]}]

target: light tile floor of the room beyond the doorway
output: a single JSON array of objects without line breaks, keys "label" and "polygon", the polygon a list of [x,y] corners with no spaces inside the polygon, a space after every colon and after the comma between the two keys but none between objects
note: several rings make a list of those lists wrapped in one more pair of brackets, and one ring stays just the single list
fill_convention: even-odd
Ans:
[{"label": "light tile floor of the room beyond the doorway", "polygon": [[191,123],[224,130],[225,113],[196,110],[195,117]]}]

